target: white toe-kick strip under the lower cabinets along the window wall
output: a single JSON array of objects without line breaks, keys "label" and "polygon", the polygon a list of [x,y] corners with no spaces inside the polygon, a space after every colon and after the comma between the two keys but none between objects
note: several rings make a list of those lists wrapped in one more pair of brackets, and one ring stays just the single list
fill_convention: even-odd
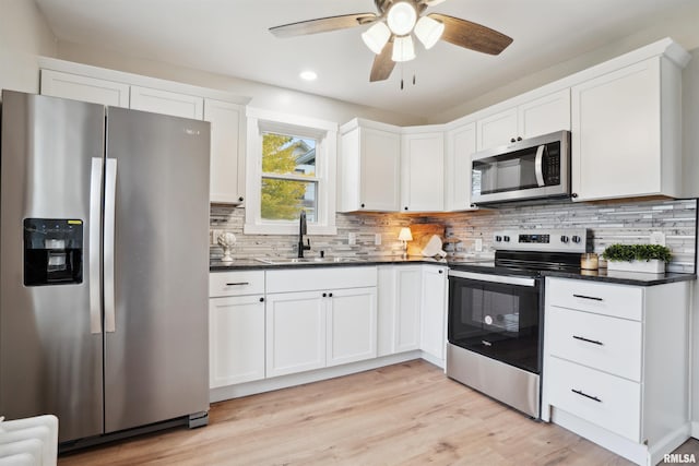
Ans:
[{"label": "white toe-kick strip under the lower cabinets along the window wall", "polygon": [[[303,385],[305,383],[318,382],[321,380],[333,379],[336,377],[350,375],[357,372],[364,372],[372,369],[382,368],[384,366],[396,365],[400,362],[420,359],[422,351],[407,351],[399,355],[383,356],[366,361],[353,362],[350,365],[335,366],[332,368],[318,369],[315,371],[299,372],[289,375],[275,377],[272,379],[263,379],[254,382],[240,383],[237,385],[221,386],[209,391],[209,401],[211,403],[222,402],[224,399],[239,398],[241,396],[256,395],[258,393],[271,392],[289,386]],[[428,362],[440,366],[431,360]],[[443,362],[440,367],[443,367]]]}]

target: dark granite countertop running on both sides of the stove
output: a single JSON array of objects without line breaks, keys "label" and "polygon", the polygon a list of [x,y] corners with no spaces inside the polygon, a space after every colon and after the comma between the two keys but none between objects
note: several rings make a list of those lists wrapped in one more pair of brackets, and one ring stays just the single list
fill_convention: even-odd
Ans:
[{"label": "dark granite countertop running on both sides of the stove", "polygon": [[[355,259],[355,260],[353,260]],[[493,263],[491,258],[487,256],[469,256],[459,259],[431,259],[419,255],[403,259],[401,255],[377,255],[377,256],[356,256],[340,258],[334,262],[334,258],[325,258],[322,261],[316,261],[308,258],[307,262],[283,262],[270,263],[265,261],[275,261],[275,258],[258,259],[236,259],[233,262],[211,261],[209,270],[211,272],[232,272],[232,271],[249,271],[249,270],[272,270],[272,268],[297,268],[297,267],[357,267],[367,265],[400,265],[400,264],[436,264],[447,265],[451,268],[463,270],[470,272],[481,272],[489,274],[509,274],[517,275],[517,271],[510,268],[497,267]],[[289,259],[281,259],[281,261],[289,261]],[[608,272],[605,268],[599,271],[544,271],[543,276],[558,278],[574,278],[594,282],[615,283],[620,285],[651,286],[662,285],[673,282],[685,282],[697,279],[697,274],[690,273],[673,273],[665,274],[647,274],[639,272]]]}]

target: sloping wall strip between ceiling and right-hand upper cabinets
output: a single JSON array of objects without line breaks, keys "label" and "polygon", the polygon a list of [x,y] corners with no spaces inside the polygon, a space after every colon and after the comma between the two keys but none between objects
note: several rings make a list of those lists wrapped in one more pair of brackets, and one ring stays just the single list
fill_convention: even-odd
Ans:
[{"label": "sloping wall strip between ceiling and right-hand upper cabinets", "polygon": [[473,113],[476,110],[541,87],[544,84],[569,76],[664,37],[672,37],[687,50],[699,47],[699,1],[665,16],[657,17],[652,27],[641,29],[632,36],[607,44],[604,47],[590,50],[572,60],[528,74],[512,81],[510,84],[483,94],[478,98],[459,104],[451,109],[433,116],[428,119],[428,122],[446,123],[455,120],[464,115]]}]

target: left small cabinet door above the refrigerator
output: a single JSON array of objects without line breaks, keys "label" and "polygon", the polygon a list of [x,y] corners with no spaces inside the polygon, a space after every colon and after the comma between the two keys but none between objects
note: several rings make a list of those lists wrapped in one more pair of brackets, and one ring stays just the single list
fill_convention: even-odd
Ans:
[{"label": "left small cabinet door above the refrigerator", "polygon": [[42,70],[42,94],[129,108],[128,84],[54,70]]}]

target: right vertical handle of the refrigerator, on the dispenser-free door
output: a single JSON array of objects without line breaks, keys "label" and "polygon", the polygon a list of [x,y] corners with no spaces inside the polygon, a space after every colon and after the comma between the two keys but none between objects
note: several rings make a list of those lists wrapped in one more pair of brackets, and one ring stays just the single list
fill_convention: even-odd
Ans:
[{"label": "right vertical handle of the refrigerator, on the dispenser-free door", "polygon": [[117,160],[107,158],[105,171],[105,331],[116,332],[115,303],[115,229],[117,198]]}]

